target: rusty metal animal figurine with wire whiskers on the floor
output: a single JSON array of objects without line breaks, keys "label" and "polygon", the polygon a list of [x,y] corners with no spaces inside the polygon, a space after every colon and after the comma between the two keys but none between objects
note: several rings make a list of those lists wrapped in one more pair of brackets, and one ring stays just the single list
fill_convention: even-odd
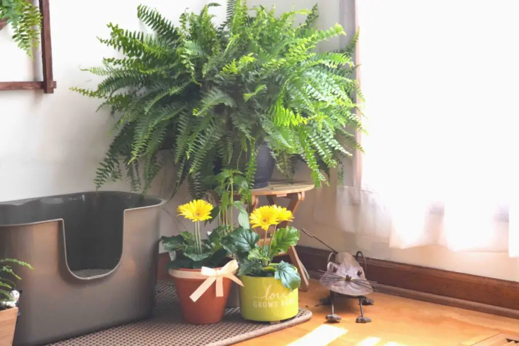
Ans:
[{"label": "rusty metal animal figurine with wire whiskers on the floor", "polygon": [[[338,294],[359,299],[361,315],[357,317],[357,323],[371,322],[370,317],[364,316],[363,306],[373,305],[373,299],[366,298],[366,295],[373,293],[374,289],[371,286],[372,281],[367,280],[365,276],[366,260],[362,252],[358,251],[355,256],[347,252],[337,252],[305,229],[302,229],[302,231],[333,251],[328,256],[326,270],[320,270],[321,276],[319,279],[321,285],[330,290],[330,295],[322,300],[323,304],[332,306],[332,313],[326,315],[326,321],[332,323],[341,320],[341,317],[334,311],[334,298]],[[364,268],[359,264],[359,257],[363,259]]]}]

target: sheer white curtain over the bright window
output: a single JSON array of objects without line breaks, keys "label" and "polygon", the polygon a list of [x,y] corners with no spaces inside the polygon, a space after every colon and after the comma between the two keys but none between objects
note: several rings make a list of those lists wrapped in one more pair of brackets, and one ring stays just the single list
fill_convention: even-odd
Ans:
[{"label": "sheer white curtain over the bright window", "polygon": [[[519,257],[519,1],[358,0],[356,10],[368,135],[359,184],[319,192],[335,201],[333,219],[393,248]],[[327,206],[316,210],[323,223]]]}]

